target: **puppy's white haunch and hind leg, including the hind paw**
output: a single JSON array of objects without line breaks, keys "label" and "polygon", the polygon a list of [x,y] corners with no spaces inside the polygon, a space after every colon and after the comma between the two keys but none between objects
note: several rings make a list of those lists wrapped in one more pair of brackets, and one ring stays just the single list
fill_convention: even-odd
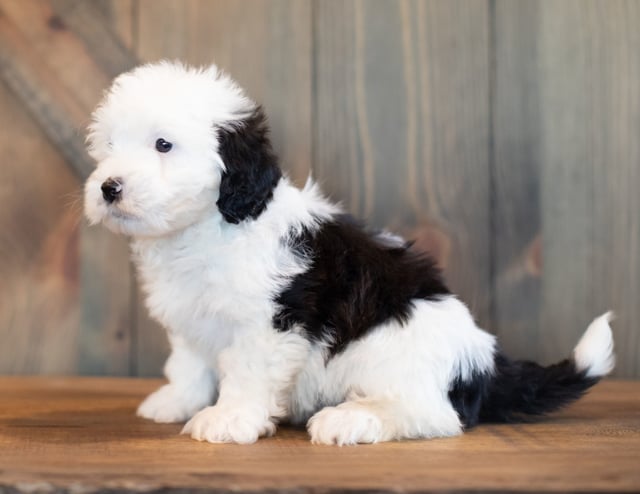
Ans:
[{"label": "puppy's white haunch and hind leg, including the hind paw", "polygon": [[294,388],[292,415],[300,421],[317,408],[303,397],[338,405],[309,421],[317,443],[460,434],[462,425],[447,396],[450,383],[474,371],[492,372],[494,350],[495,338],[476,327],[455,297],[416,301],[405,326],[389,322],[376,328],[324,368],[310,359],[313,370],[302,373]]}]

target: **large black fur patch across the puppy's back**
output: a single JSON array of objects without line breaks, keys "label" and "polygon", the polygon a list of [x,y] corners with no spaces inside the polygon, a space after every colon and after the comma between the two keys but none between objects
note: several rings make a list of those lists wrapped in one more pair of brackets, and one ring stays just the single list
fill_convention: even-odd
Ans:
[{"label": "large black fur patch across the puppy's back", "polygon": [[292,248],[311,260],[276,299],[274,326],[301,325],[315,341],[331,341],[331,355],[390,319],[405,323],[415,299],[449,294],[435,262],[364,231],[346,215],[305,232]]}]

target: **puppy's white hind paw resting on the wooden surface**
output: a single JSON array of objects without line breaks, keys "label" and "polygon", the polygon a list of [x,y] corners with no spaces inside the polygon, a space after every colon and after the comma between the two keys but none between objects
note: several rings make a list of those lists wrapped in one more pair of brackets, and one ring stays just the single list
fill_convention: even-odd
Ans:
[{"label": "puppy's white hind paw resting on the wooden surface", "polygon": [[380,419],[364,407],[327,407],[307,424],[314,444],[344,446],[383,440]]}]

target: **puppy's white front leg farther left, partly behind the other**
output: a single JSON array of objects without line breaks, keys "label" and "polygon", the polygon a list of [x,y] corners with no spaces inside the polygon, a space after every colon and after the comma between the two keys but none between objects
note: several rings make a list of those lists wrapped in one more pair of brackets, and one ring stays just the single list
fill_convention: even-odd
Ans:
[{"label": "puppy's white front leg farther left, partly behind the other", "polygon": [[169,380],[138,407],[138,416],[155,422],[184,422],[215,401],[215,372],[177,336],[164,366]]}]

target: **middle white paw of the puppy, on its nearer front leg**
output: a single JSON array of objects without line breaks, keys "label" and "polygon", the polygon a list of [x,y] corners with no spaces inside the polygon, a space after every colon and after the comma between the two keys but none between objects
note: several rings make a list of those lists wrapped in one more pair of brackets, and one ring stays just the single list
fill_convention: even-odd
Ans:
[{"label": "middle white paw of the puppy, on its nearer front leg", "polygon": [[240,444],[254,443],[275,431],[266,410],[220,405],[200,411],[182,429],[183,434],[198,441]]}]

